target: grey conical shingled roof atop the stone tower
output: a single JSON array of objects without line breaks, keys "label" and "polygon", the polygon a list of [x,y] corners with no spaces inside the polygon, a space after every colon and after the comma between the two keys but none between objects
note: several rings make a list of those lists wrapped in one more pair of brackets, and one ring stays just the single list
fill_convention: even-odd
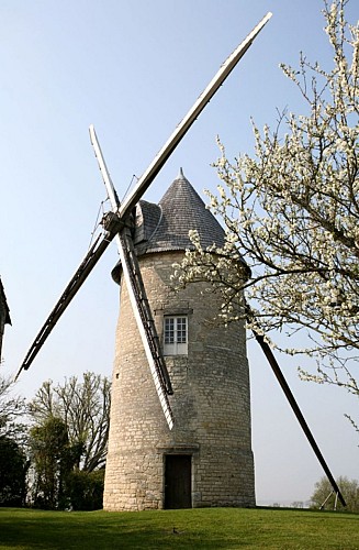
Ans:
[{"label": "grey conical shingled roof atop the stone tower", "polygon": [[[135,243],[144,237],[146,253],[193,249],[189,239],[189,231],[193,229],[199,232],[204,249],[213,243],[217,246],[224,244],[223,228],[184,177],[182,168],[158,206],[141,201],[139,209],[142,216],[139,224],[136,223]],[[147,226],[145,232],[143,224]],[[148,229],[152,229],[150,234]]]}]

